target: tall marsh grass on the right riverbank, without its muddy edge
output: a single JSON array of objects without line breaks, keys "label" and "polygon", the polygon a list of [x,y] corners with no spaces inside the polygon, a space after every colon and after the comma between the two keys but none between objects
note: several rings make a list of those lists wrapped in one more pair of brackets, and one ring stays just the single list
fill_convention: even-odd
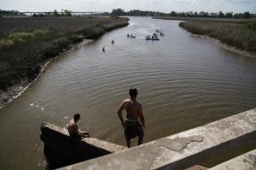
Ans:
[{"label": "tall marsh grass on the right riverbank, without its muddy edge", "polygon": [[214,23],[189,21],[180,23],[180,27],[193,34],[210,36],[223,44],[232,45],[249,53],[256,53],[255,23]]}]

